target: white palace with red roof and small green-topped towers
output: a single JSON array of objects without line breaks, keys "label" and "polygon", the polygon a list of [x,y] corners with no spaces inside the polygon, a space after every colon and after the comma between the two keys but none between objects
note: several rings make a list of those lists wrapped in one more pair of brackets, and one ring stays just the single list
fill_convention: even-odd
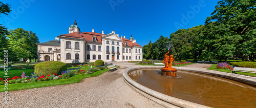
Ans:
[{"label": "white palace with red roof and small green-topped towers", "polygon": [[103,61],[141,61],[142,46],[131,37],[80,32],[77,23],[69,27],[69,34],[61,34],[55,40],[37,44],[39,61],[62,61],[65,63]]}]

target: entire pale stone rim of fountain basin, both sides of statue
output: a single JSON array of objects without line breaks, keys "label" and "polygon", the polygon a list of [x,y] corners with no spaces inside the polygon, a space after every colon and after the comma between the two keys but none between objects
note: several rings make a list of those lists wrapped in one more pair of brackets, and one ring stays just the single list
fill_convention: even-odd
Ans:
[{"label": "entire pale stone rim of fountain basin, both sides of statue", "polygon": [[[144,67],[131,67],[127,68],[123,71],[123,79],[124,81],[130,85],[135,91],[140,93],[141,95],[165,106],[165,107],[170,107],[169,105],[176,105],[179,107],[208,107],[204,106],[201,104],[189,102],[186,100],[178,99],[175,97],[167,96],[162,93],[153,91],[151,89],[148,89],[144,87],[143,85],[135,82],[132,80],[129,76],[128,73],[133,70],[137,69],[157,69],[161,68],[162,66],[144,66]],[[176,68],[177,70],[184,70],[184,71],[191,71],[191,72],[197,72],[197,73],[202,73],[202,74],[208,74],[208,75],[213,75],[213,76],[218,76],[218,77],[223,77],[231,80],[236,80],[248,84],[252,84],[256,86],[256,77],[251,77],[251,76],[245,76],[245,75],[239,75],[239,74],[232,74],[232,73],[225,73],[225,72],[219,72],[219,71],[214,71],[214,70],[206,70],[206,69],[198,69],[198,68],[185,68],[185,67],[173,67]],[[166,104],[167,103],[167,104]]]}]

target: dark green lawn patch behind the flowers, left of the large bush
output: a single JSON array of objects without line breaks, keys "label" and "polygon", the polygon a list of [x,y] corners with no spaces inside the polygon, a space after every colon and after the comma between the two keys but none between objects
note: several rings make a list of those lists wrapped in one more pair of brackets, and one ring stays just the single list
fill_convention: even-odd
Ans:
[{"label": "dark green lawn patch behind the flowers, left of the large bush", "polygon": [[8,70],[8,75],[5,75],[5,71],[4,70],[0,70],[0,78],[3,78],[4,76],[9,76],[9,78],[12,78],[14,76],[21,76],[23,72],[25,72],[25,75],[30,76],[31,73],[34,72],[34,69]]}]

